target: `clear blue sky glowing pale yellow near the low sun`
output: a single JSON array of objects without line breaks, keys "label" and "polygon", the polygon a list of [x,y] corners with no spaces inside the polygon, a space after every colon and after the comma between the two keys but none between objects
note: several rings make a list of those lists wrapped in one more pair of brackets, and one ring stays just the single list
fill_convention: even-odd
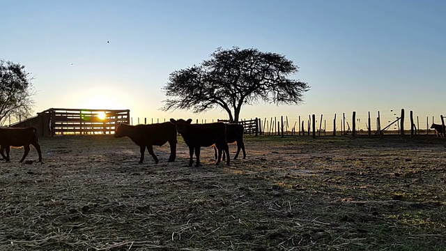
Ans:
[{"label": "clear blue sky glowing pale yellow near the low sun", "polygon": [[220,108],[162,112],[162,87],[175,70],[210,59],[218,47],[238,46],[283,54],[300,68],[291,77],[311,86],[300,105],[259,102],[243,107],[243,119],[323,114],[331,125],[334,114],[351,119],[355,111],[364,127],[368,112],[374,121],[380,111],[384,124],[405,109],[425,128],[446,116],[443,0],[0,0],[0,6],[0,59],[32,73],[36,113],[130,109],[134,123],[227,119]]}]

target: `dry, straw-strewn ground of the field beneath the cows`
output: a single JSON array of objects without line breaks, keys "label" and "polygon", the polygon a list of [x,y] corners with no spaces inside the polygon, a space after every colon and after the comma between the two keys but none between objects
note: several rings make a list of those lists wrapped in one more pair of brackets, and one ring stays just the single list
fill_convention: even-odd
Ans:
[{"label": "dry, straw-strewn ground of the field beneath the cows", "polygon": [[157,165],[110,136],[43,137],[43,164],[13,149],[0,250],[446,250],[445,139],[247,136],[245,160],[199,168],[178,140]]}]

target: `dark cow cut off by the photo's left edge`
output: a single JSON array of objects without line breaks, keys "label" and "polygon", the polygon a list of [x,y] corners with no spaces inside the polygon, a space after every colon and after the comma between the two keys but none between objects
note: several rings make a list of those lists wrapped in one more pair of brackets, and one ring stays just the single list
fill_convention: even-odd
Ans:
[{"label": "dark cow cut off by the photo's left edge", "polygon": [[[39,162],[42,162],[42,151],[40,150],[39,139],[36,134],[36,128],[0,128],[0,153],[3,160],[9,162],[10,146],[23,146],[25,152],[20,162],[26,158],[29,153],[29,145],[32,144],[39,155]],[[6,156],[4,151],[6,150]]]}]

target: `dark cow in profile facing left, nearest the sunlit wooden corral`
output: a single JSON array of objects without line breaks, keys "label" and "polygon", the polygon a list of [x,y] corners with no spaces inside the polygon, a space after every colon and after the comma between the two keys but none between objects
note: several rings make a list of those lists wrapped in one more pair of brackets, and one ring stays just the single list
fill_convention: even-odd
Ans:
[{"label": "dark cow in profile facing left, nearest the sunlit wooden corral", "polygon": [[153,153],[153,146],[162,146],[169,142],[170,156],[168,162],[174,162],[176,158],[176,127],[170,122],[155,123],[151,125],[137,125],[130,126],[127,124],[121,124],[116,128],[114,137],[129,137],[132,141],[139,146],[141,151],[141,158],[139,164],[144,160],[144,152],[147,151],[158,163],[158,158]]}]

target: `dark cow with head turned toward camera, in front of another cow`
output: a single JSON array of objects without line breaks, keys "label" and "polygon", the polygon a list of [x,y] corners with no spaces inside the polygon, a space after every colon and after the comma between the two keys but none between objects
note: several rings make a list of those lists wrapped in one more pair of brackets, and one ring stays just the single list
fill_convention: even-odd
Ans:
[{"label": "dark cow with head turned toward camera, in front of another cow", "polygon": [[194,162],[194,151],[197,157],[195,167],[200,165],[200,148],[201,146],[213,146],[218,150],[217,161],[218,165],[222,158],[222,151],[228,157],[226,165],[229,165],[229,148],[226,142],[226,125],[224,123],[205,123],[205,124],[191,124],[192,119],[170,119],[171,123],[176,126],[176,130],[183,137],[185,143],[189,147],[189,167],[192,167]]}]

